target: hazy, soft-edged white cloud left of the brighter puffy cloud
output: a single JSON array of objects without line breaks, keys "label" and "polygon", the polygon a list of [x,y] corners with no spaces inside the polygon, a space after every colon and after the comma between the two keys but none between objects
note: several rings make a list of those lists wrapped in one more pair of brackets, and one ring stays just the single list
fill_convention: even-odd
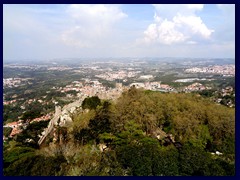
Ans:
[{"label": "hazy, soft-edged white cloud left of the brighter puffy cloud", "polygon": [[74,4],[67,13],[72,24],[62,33],[62,40],[78,47],[94,46],[111,34],[117,21],[127,17],[116,5]]}]

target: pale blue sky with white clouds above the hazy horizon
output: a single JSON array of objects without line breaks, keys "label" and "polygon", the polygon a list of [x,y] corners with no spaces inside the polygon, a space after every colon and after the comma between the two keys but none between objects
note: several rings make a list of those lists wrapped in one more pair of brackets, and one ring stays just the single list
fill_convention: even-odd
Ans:
[{"label": "pale blue sky with white clouds above the hazy horizon", "polygon": [[235,57],[234,4],[4,4],[3,59]]}]

